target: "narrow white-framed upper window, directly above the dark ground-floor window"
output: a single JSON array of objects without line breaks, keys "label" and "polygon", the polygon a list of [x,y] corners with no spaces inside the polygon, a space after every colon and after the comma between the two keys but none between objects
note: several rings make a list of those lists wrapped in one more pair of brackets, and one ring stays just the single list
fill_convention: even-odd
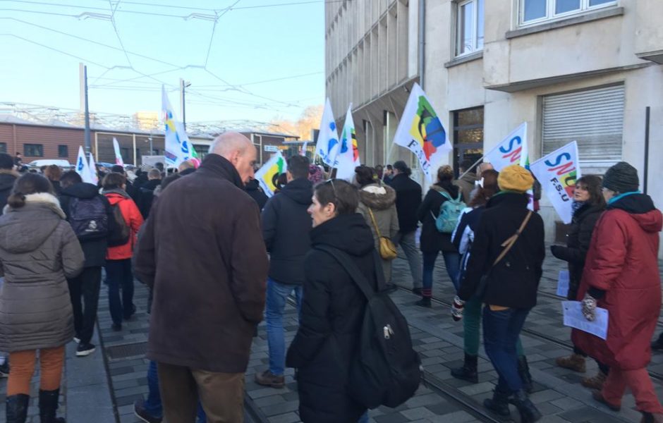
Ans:
[{"label": "narrow white-framed upper window, directly above the dark ground-floor window", "polygon": [[484,0],[458,2],[456,56],[483,49],[483,2]]}]

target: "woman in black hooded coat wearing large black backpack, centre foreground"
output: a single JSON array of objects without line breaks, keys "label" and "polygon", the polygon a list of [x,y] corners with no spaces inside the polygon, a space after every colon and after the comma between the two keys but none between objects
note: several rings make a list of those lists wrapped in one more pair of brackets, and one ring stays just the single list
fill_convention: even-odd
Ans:
[{"label": "woman in black hooded coat wearing large black backpack, centre foreground", "polygon": [[312,250],[304,259],[300,325],[286,365],[297,369],[299,417],[305,423],[367,422],[366,409],[348,394],[366,299],[334,257],[318,245],[345,252],[377,288],[375,244],[361,214],[357,188],[334,179],[315,187],[308,209]]}]

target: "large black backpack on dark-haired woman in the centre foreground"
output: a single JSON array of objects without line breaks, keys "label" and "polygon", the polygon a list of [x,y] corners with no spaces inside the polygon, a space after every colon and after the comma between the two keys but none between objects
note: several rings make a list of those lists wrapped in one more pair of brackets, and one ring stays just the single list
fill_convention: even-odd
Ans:
[{"label": "large black backpack on dark-haired woman in the centre foreground", "polygon": [[[355,401],[367,408],[398,407],[414,396],[421,381],[419,354],[412,348],[408,321],[386,291],[374,292],[365,276],[345,252],[317,245],[350,274],[367,299],[359,348],[350,367],[348,390]],[[383,283],[382,267],[374,258],[378,286]]]}]

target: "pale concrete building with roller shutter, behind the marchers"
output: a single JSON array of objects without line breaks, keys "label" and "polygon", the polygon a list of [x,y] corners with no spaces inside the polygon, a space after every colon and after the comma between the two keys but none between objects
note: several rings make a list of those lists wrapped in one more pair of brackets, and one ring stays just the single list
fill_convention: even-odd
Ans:
[{"label": "pale concrete building with roller shutter, behind the marchers", "polygon": [[[389,152],[415,81],[475,159],[523,122],[530,161],[578,141],[583,174],[624,160],[663,207],[663,1],[361,0],[326,5],[327,95],[349,102],[367,164]],[[410,157],[410,162],[413,159]],[[413,163],[413,165],[416,165]],[[559,219],[542,201],[547,236]]]}]

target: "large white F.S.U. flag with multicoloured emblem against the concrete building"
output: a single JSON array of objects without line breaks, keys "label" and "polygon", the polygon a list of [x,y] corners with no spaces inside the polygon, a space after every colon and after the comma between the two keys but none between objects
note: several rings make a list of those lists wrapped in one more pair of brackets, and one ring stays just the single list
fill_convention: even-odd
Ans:
[{"label": "large white F.S.U. flag with multicoloured emblem against the concrete building", "polygon": [[415,82],[394,136],[396,145],[409,149],[419,159],[430,182],[437,168],[449,160],[451,143],[426,93]]}]

